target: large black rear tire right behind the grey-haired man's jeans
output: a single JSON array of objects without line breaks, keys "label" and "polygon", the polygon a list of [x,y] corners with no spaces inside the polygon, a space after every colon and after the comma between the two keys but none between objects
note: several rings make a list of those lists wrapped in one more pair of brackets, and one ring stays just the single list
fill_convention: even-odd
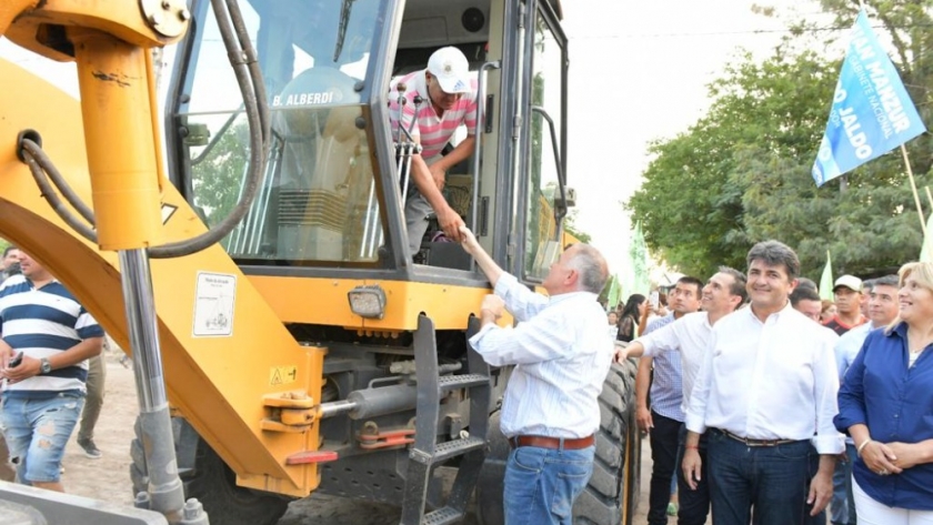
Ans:
[{"label": "large black rear tire right behind the grey-haired man's jeans", "polygon": [[[574,524],[630,524],[638,498],[639,461],[630,440],[634,430],[635,374],[633,360],[613,364],[600,394],[600,432],[593,475],[573,505]],[[636,437],[635,437],[636,438]]]}]

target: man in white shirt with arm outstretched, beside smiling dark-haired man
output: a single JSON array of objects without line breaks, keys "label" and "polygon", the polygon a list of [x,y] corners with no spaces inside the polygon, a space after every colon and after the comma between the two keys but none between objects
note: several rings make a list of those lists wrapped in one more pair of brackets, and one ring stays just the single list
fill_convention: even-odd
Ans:
[{"label": "man in white shirt with arm outstretched, beside smiling dark-haired man", "polygon": [[[683,371],[682,403],[685,411],[690,404],[690,394],[696,374],[704,361],[713,325],[724,315],[735,311],[744,301],[745,275],[738,270],[722,266],[703,286],[702,312],[686,314],[656,332],[632,341],[624,349],[616,347],[615,361],[621,363],[628,357],[679,352]],[[685,428],[681,425],[678,460],[683,457],[685,433]],[[700,456],[703,458],[706,455],[705,438],[701,437],[699,446]],[[705,478],[704,473],[701,476],[701,482],[698,483],[695,488],[691,489],[688,487],[683,475],[678,475],[678,491],[680,493],[679,525],[702,525],[706,523],[706,514],[710,512],[710,493]]]}]

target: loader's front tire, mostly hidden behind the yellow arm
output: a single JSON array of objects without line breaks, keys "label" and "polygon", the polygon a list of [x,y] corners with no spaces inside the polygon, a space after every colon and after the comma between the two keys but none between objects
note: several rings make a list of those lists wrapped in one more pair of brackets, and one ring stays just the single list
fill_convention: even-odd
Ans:
[{"label": "loader's front tire, mostly hidden behind the yellow arm", "polygon": [[[149,474],[136,425],[137,437],[130,445],[130,478],[133,494],[144,492]],[[237,486],[237,475],[213,448],[182,418],[172,418],[179,476],[184,497],[197,497],[204,505],[211,523],[224,525],[274,525],[289,506],[278,494]]]}]

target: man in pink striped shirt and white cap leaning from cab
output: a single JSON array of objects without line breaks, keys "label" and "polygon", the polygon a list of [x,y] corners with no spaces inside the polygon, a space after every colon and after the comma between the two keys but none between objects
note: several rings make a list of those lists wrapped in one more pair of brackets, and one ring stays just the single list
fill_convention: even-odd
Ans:
[{"label": "man in pink striped shirt and white cap leaning from cab", "polygon": [[[399,103],[401,97],[405,100],[403,104]],[[418,97],[422,100],[420,104],[415,104]],[[420,154],[412,155],[411,184],[405,194],[411,253],[418,253],[421,248],[432,210],[444,235],[460,242],[463,219],[441,191],[447,171],[470,157],[476,144],[476,81],[470,74],[466,57],[453,47],[434,51],[427,69],[409,73],[394,83],[389,94],[389,115],[395,137],[405,140],[404,133],[398,134],[402,125],[411,130],[412,140],[422,148]],[[453,151],[442,154],[461,124],[466,125],[466,138]]]}]

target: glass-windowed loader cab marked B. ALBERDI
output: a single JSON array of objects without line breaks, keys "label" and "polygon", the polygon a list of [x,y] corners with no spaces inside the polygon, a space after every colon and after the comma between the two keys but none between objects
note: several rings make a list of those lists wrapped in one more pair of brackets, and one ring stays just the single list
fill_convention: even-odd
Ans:
[{"label": "glass-windowed loader cab marked B. ALBERDI", "polygon": [[[224,249],[251,274],[475,282],[429,228],[409,253],[393,78],[461,49],[484,87],[479,155],[448,202],[496,261],[546,274],[565,213],[566,40],[556,0],[243,0],[271,111],[258,198]],[[167,104],[170,175],[209,225],[243,191],[249,138],[210,2],[194,0]]]}]

